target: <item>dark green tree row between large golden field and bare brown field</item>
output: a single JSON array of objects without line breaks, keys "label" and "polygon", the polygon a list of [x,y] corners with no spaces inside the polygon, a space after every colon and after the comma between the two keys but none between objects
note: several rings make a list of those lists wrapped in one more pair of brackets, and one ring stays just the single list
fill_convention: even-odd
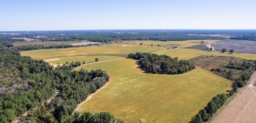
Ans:
[{"label": "dark green tree row between large golden field and bare brown field", "polygon": [[217,112],[217,110],[226,102],[227,94],[222,93],[213,97],[210,102],[208,102],[207,106],[200,110],[194,117],[192,117],[189,123],[202,123],[207,122],[212,115]]}]

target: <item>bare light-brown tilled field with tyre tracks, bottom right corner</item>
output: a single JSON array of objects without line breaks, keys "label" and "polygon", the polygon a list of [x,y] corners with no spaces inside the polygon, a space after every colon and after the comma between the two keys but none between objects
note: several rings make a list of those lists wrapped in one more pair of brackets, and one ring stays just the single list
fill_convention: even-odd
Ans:
[{"label": "bare light-brown tilled field with tyre tracks, bottom right corner", "polygon": [[251,81],[222,110],[212,123],[255,123],[256,122],[256,71]]}]

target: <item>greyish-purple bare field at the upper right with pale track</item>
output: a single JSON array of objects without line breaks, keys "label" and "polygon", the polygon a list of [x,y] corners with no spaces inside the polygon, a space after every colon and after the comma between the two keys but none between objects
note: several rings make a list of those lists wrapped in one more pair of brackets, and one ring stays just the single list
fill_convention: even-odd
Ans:
[{"label": "greyish-purple bare field at the upper right with pale track", "polygon": [[187,49],[203,49],[213,47],[216,51],[221,51],[222,48],[234,49],[238,53],[256,54],[256,42],[248,40],[220,40],[212,43],[205,43],[195,46],[186,47]]}]

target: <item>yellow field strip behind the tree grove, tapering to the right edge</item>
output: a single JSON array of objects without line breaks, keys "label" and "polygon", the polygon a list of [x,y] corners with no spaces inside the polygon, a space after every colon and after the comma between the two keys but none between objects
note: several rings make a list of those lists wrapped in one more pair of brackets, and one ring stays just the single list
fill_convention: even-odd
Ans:
[{"label": "yellow field strip behind the tree grove, tapering to the right edge", "polygon": [[207,51],[202,51],[197,49],[184,49],[184,48],[156,52],[155,54],[158,54],[158,55],[166,54],[170,57],[179,57],[179,59],[191,59],[201,55],[211,56],[213,54],[214,56],[230,56],[230,57],[237,57],[237,58],[246,59],[246,60],[256,60],[256,55],[254,54],[240,54],[240,53],[228,54],[228,53],[221,53],[221,52],[207,52]]}]

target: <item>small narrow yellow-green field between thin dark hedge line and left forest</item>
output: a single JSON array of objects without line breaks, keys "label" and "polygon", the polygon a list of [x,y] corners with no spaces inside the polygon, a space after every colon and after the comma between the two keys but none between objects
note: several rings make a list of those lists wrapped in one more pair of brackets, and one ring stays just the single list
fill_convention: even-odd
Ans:
[{"label": "small narrow yellow-green field between thin dark hedge line and left forest", "polygon": [[51,65],[56,65],[57,63],[59,64],[64,64],[66,61],[71,63],[72,61],[77,62],[80,61],[81,63],[83,63],[83,61],[85,61],[85,63],[88,62],[94,62],[95,58],[98,58],[99,61],[103,61],[103,60],[108,60],[108,59],[115,59],[115,58],[121,58],[119,56],[107,56],[107,55],[97,55],[97,56],[72,56],[72,57],[56,57],[56,58],[46,58],[43,59],[45,62],[48,62]]}]

